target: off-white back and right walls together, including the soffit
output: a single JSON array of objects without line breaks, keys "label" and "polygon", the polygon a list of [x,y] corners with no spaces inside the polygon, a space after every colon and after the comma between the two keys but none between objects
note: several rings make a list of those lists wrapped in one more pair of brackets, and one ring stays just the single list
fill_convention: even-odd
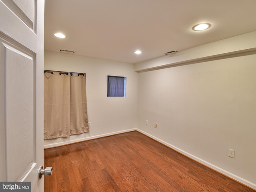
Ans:
[{"label": "off-white back and right walls together, including the soffit", "polygon": [[[86,73],[92,127],[89,134],[45,140],[45,146],[134,128],[256,189],[255,39],[252,32],[135,68],[46,51],[46,70]],[[106,97],[107,75],[127,76],[126,98]],[[228,157],[228,148],[235,150],[234,159]]]}]

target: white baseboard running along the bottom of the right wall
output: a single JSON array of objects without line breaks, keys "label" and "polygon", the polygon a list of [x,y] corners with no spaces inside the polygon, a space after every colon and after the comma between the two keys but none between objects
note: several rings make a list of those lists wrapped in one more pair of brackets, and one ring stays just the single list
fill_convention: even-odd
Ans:
[{"label": "white baseboard running along the bottom of the right wall", "polygon": [[145,134],[146,136],[148,136],[148,137],[150,137],[150,138],[152,138],[152,139],[154,139],[154,140],[156,140],[156,141],[158,141],[158,142],[160,142],[160,143],[162,143],[162,144],[164,144],[164,145],[166,145],[166,146],[168,146],[168,147],[170,147],[170,148],[180,152],[184,156],[187,156],[187,157],[189,157],[189,158],[191,158],[191,159],[193,159],[193,160],[195,160],[197,162],[200,162],[201,164],[203,164],[203,165],[205,165],[205,166],[207,166],[209,168],[212,168],[213,170],[216,170],[217,172],[220,172],[220,173],[222,173],[222,174],[224,174],[224,175],[226,175],[226,176],[228,176],[228,177],[230,177],[230,178],[232,178],[232,179],[234,179],[234,180],[236,180],[236,181],[238,181],[238,182],[240,182],[240,183],[242,183],[242,184],[244,184],[246,186],[249,186],[249,187],[251,187],[251,188],[256,190],[256,184],[254,184],[254,183],[252,183],[252,182],[250,182],[248,180],[245,180],[245,179],[243,179],[243,178],[241,178],[241,177],[239,177],[239,176],[237,176],[235,174],[232,174],[232,173],[230,173],[230,172],[228,172],[228,171],[226,171],[226,170],[224,170],[224,169],[222,169],[222,168],[220,168],[218,166],[215,166],[215,165],[213,165],[213,164],[211,164],[211,163],[209,163],[209,162],[207,162],[207,161],[205,161],[205,160],[203,160],[201,158],[198,158],[198,157],[196,157],[196,156],[194,156],[194,155],[192,155],[192,154],[190,154],[190,153],[188,153],[188,152],[186,152],[184,150],[181,150],[180,148],[177,148],[176,146],[173,146],[173,145],[171,145],[171,144],[169,144],[169,143],[167,143],[167,142],[165,142],[165,141],[163,141],[163,140],[161,140],[161,139],[159,139],[159,138],[157,138],[155,136],[152,136],[152,135],[150,135],[150,134],[148,134],[148,133],[146,133],[146,132],[144,132],[142,130],[139,130],[139,129],[136,129],[136,130],[138,132],[140,132],[142,134]]}]

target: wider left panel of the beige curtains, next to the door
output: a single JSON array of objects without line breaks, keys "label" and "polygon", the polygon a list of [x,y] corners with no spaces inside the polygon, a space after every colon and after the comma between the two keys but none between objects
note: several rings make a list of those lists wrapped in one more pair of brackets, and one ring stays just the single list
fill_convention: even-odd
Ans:
[{"label": "wider left panel of the beige curtains, next to the door", "polygon": [[44,139],[70,136],[70,76],[44,74]]}]

